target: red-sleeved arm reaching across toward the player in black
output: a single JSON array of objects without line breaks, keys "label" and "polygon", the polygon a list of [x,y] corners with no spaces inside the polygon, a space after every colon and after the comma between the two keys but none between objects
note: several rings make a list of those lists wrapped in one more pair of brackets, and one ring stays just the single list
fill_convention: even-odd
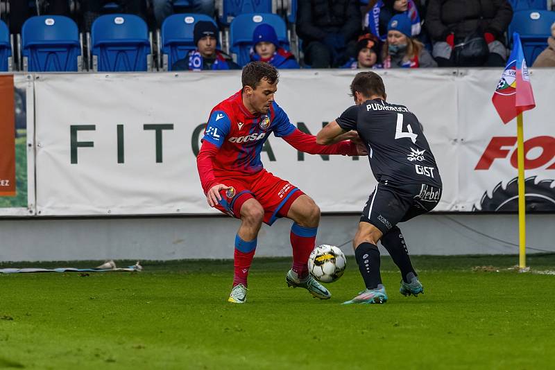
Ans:
[{"label": "red-sleeved arm reaching across toward the player in black", "polygon": [[316,136],[305,134],[298,129],[295,129],[291,134],[283,136],[283,139],[289,143],[290,146],[301,152],[309,154],[331,154],[331,155],[366,155],[368,153],[361,152],[357,143],[352,141],[340,141],[331,145],[321,145],[316,143]]}]

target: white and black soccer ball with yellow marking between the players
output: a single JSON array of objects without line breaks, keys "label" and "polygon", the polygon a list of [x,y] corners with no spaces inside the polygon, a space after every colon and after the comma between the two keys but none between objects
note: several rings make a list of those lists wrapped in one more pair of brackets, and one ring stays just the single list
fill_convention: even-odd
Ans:
[{"label": "white and black soccer ball with yellow marking between the players", "polygon": [[333,283],[339,279],[346,266],[345,254],[334,245],[320,245],[314,248],[308,258],[310,274],[322,283]]}]

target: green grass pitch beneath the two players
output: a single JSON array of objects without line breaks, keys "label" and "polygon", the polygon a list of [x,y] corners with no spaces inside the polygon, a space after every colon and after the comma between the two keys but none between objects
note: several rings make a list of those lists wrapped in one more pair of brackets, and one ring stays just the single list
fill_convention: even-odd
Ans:
[{"label": "green grass pitch beneath the two players", "polygon": [[[415,257],[425,294],[407,298],[384,257],[389,301],[358,306],[339,304],[362,288],[352,259],[327,285],[332,299],[319,301],[287,288],[288,259],[255,258],[244,305],[226,301],[232,261],[145,261],[143,272],[89,276],[0,274],[0,368],[552,369],[555,275],[507,269],[517,261]],[[532,272],[555,270],[555,254],[528,263]]]}]

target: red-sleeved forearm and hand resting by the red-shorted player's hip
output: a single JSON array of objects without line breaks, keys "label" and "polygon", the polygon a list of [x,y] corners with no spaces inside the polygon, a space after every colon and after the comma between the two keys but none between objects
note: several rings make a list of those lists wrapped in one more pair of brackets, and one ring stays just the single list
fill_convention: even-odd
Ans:
[{"label": "red-sleeved forearm and hand resting by the red-shorted player's hip", "polygon": [[196,156],[196,168],[200,183],[203,185],[203,191],[206,194],[208,204],[213,207],[221,200],[220,191],[228,190],[229,186],[219,184],[214,176],[214,167],[212,166],[212,159],[216,156],[219,148],[210,141],[203,141],[203,146]]}]

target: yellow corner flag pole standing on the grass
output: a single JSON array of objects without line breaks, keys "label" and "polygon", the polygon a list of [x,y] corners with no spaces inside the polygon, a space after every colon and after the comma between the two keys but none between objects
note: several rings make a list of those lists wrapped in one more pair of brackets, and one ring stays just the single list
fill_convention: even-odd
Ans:
[{"label": "yellow corner flag pole standing on the grass", "polygon": [[517,153],[518,153],[518,267],[526,268],[526,191],[524,188],[524,129],[522,113],[516,118]]}]

